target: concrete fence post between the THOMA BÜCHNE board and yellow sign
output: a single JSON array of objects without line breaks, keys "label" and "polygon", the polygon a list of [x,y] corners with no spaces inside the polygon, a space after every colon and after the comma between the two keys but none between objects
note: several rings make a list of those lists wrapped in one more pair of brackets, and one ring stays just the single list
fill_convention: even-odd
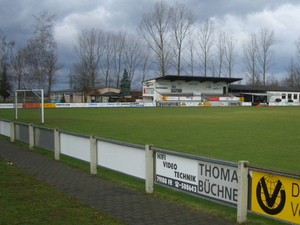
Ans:
[{"label": "concrete fence post between the THOMA B\u00dcCHNE board and yellow sign", "polygon": [[239,189],[238,189],[238,223],[247,221],[247,200],[248,200],[248,161],[239,161]]}]

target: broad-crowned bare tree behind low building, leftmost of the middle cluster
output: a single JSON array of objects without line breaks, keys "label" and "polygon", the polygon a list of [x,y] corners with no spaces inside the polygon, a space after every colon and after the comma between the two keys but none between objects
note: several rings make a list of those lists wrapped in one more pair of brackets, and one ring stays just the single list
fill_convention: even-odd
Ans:
[{"label": "broad-crowned bare tree behind low building, leftmost of the middle cluster", "polygon": [[82,30],[73,49],[79,60],[86,65],[91,85],[95,87],[99,76],[99,61],[104,51],[102,31],[94,28]]}]

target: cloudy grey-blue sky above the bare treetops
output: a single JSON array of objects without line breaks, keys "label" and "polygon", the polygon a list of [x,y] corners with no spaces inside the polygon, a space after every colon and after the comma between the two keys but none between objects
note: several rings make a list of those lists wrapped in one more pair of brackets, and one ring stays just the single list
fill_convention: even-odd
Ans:
[{"label": "cloudy grey-blue sky above the bare treetops", "polygon": [[[165,0],[169,5],[173,0]],[[143,13],[155,0],[0,0],[0,29],[6,41],[23,47],[32,35],[33,14],[47,9],[56,14],[54,37],[58,43],[60,84],[55,90],[68,88],[65,76],[76,61],[72,46],[79,31],[86,28],[134,31]],[[294,42],[300,35],[299,0],[179,0],[192,8],[197,21],[213,19],[216,29],[234,32],[238,54],[233,77],[243,77],[241,42],[250,32],[262,27],[274,30],[274,66],[269,75],[285,76],[291,57],[295,57]],[[200,75],[200,74],[199,74]]]}]

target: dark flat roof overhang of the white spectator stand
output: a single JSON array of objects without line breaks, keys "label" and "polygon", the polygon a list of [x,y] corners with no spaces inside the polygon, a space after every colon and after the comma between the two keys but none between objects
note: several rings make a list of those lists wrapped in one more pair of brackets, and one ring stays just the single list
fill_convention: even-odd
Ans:
[{"label": "dark flat roof overhang of the white spectator stand", "polygon": [[[180,81],[185,81],[185,82],[190,82],[190,81],[199,81],[200,83],[206,82],[206,81],[212,81],[214,83],[218,82],[226,82],[227,84],[240,81],[242,78],[229,78],[229,77],[205,77],[205,76],[177,76],[177,75],[166,75],[166,76],[161,76],[157,78],[153,78],[150,80],[156,80],[156,81],[161,81],[161,80],[171,80],[171,82],[180,80]],[[150,80],[145,80],[150,81]]]}]

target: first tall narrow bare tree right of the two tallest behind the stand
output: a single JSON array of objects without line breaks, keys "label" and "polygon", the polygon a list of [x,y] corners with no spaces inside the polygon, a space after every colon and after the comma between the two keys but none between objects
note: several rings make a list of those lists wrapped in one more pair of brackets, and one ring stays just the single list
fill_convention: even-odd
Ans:
[{"label": "first tall narrow bare tree right of the two tallest behind the stand", "polygon": [[197,51],[197,55],[203,65],[204,76],[206,76],[208,63],[211,59],[211,47],[214,43],[214,21],[207,19],[206,21],[201,21],[199,23],[197,40],[200,46],[200,50]]}]

